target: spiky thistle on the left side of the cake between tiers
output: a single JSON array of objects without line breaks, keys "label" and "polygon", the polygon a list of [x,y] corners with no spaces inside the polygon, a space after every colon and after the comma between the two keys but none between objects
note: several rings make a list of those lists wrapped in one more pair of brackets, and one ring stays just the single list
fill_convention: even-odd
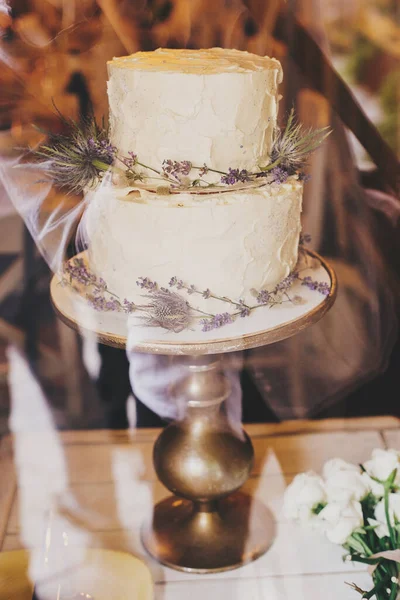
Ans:
[{"label": "spiky thistle on the left side of the cake between tiers", "polygon": [[112,165],[116,148],[94,117],[79,125],[60,115],[66,134],[51,134],[49,141],[35,151],[43,162],[47,175],[59,188],[81,193],[97,183],[101,174]]}]

